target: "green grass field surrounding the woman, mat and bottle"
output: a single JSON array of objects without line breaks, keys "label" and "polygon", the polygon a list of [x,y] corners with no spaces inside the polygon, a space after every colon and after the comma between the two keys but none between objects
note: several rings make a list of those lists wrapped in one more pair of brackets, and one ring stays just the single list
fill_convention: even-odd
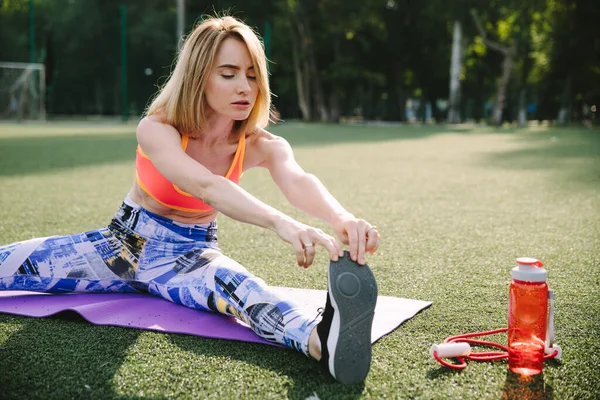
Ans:
[{"label": "green grass field surrounding the woman, mat and bottle", "polygon": [[[106,225],[133,181],[134,130],[0,125],[0,244]],[[364,384],[337,384],[313,361],[270,346],[0,315],[0,397],[598,398],[600,131],[296,123],[272,131],[379,227],[369,264],[380,294],[433,301],[374,345]],[[266,171],[247,172],[242,186],[331,233],[294,211]],[[223,216],[219,224],[222,249],[267,283],[326,288],[323,251],[301,270],[274,233]],[[520,256],[547,266],[562,360],[531,381],[509,375],[505,361],[441,367],[429,356],[433,343],[506,326],[509,271]]]}]

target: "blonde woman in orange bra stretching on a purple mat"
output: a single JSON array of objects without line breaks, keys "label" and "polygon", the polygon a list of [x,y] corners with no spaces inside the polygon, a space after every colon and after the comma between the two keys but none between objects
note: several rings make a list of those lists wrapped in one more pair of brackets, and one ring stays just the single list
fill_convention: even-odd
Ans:
[{"label": "blonde woman in orange bra stretching on a purple mat", "polygon": [[[361,265],[365,253],[377,250],[379,233],[305,173],[284,139],[263,129],[269,109],[266,59],[256,34],[231,17],[205,20],[186,39],[139,123],[137,179],[110,225],[0,247],[0,289],[146,291],[236,316],[258,335],[320,361],[337,380],[363,380],[377,285]],[[240,176],[254,167],[267,168],[294,206],[330,222],[349,255],[333,237],[240,188]],[[315,246],[329,252],[320,320],[221,253],[218,212],[276,232],[301,267],[312,264]]]}]

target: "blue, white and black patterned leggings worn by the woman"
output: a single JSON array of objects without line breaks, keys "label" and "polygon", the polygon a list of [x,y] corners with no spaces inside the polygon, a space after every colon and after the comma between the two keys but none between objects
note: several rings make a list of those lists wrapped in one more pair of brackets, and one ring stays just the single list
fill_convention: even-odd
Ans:
[{"label": "blue, white and black patterned leggings worn by the woman", "polygon": [[223,255],[216,223],[182,224],[126,198],[106,228],[0,246],[0,290],[149,292],[232,315],[308,356],[316,321]]}]

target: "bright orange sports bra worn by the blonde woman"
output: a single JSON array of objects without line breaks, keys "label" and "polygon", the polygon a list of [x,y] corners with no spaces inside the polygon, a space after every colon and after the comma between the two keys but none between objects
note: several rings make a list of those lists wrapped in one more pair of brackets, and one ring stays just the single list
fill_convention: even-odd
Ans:
[{"label": "bright orange sports bra worn by the blonde woman", "polygon": [[[189,138],[186,135],[181,137],[181,148],[183,151],[187,148]],[[225,178],[234,183],[239,183],[244,166],[244,153],[246,150],[246,138],[240,135],[240,141],[233,157],[233,162]],[[179,189],[167,178],[165,178],[152,164],[152,161],[142,151],[138,145],[135,155],[135,170],[138,185],[150,197],[160,204],[180,211],[204,212],[211,211],[213,208],[202,200],[195,198],[189,193]]]}]

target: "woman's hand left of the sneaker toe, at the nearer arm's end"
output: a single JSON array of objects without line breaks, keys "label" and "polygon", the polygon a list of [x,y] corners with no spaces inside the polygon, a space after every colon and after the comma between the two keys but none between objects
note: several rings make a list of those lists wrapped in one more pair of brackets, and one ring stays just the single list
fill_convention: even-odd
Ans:
[{"label": "woman's hand left of the sneaker toe, at the nearer arm's end", "polygon": [[325,247],[332,261],[337,261],[338,257],[344,255],[342,247],[332,236],[292,218],[280,220],[275,226],[275,231],[280,238],[294,247],[298,265],[303,268],[308,268],[313,263],[316,245]]}]

